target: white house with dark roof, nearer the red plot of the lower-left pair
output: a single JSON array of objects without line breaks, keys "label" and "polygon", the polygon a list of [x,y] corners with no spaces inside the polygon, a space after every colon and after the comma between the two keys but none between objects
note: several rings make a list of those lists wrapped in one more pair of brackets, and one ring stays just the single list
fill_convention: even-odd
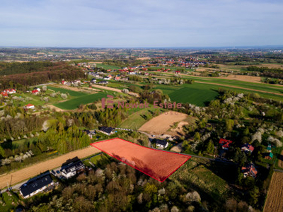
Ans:
[{"label": "white house with dark roof, nearer the red plot of the lower-left pair", "polygon": [[71,177],[74,177],[77,173],[83,172],[85,166],[81,162],[81,160],[75,160],[71,163],[67,163],[62,165],[61,167],[61,175],[62,177],[69,179]]}]

